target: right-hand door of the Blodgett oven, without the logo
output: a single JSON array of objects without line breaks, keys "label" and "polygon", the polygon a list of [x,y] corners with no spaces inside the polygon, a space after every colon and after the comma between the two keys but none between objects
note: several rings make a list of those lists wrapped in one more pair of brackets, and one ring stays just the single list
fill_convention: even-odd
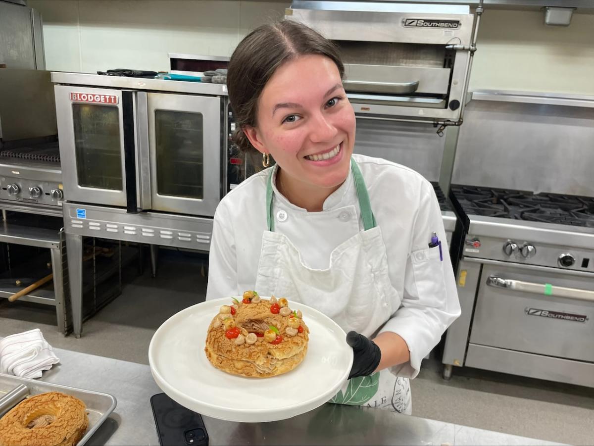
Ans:
[{"label": "right-hand door of the Blodgett oven, without the logo", "polygon": [[219,97],[147,93],[151,208],[214,216],[222,188]]}]

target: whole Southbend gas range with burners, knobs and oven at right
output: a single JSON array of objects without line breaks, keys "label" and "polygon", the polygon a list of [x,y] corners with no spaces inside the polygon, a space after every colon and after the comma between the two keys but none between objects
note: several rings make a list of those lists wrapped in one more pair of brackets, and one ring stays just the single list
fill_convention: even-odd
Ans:
[{"label": "whole Southbend gas range with burners, knobs and oven at right", "polygon": [[594,387],[594,199],[452,185],[462,314],[442,362]]}]

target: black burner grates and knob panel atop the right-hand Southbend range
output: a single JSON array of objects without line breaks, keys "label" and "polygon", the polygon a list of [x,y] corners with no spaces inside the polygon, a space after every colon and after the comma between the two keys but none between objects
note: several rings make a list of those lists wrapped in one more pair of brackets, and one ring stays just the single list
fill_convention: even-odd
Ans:
[{"label": "black burner grates and knob panel atop the right-hand Southbend range", "polygon": [[461,256],[594,272],[594,198],[452,185]]}]

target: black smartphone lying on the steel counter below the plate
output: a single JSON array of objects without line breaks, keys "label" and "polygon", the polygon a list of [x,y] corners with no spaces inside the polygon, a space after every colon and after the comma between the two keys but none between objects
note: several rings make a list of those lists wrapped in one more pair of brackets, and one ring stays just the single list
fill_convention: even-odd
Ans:
[{"label": "black smartphone lying on the steel counter below the plate", "polygon": [[164,393],[150,398],[161,446],[208,446],[208,433],[200,413],[192,412]]}]

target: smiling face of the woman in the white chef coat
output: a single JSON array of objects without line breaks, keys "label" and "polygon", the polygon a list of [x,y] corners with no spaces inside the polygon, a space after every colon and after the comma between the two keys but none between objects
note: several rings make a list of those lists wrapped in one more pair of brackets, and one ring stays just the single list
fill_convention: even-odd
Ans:
[{"label": "smiling face of the woman in the white chef coat", "polygon": [[260,96],[257,127],[246,134],[293,190],[333,192],[346,179],[355,144],[355,113],[336,64],[306,55],[279,67]]}]

